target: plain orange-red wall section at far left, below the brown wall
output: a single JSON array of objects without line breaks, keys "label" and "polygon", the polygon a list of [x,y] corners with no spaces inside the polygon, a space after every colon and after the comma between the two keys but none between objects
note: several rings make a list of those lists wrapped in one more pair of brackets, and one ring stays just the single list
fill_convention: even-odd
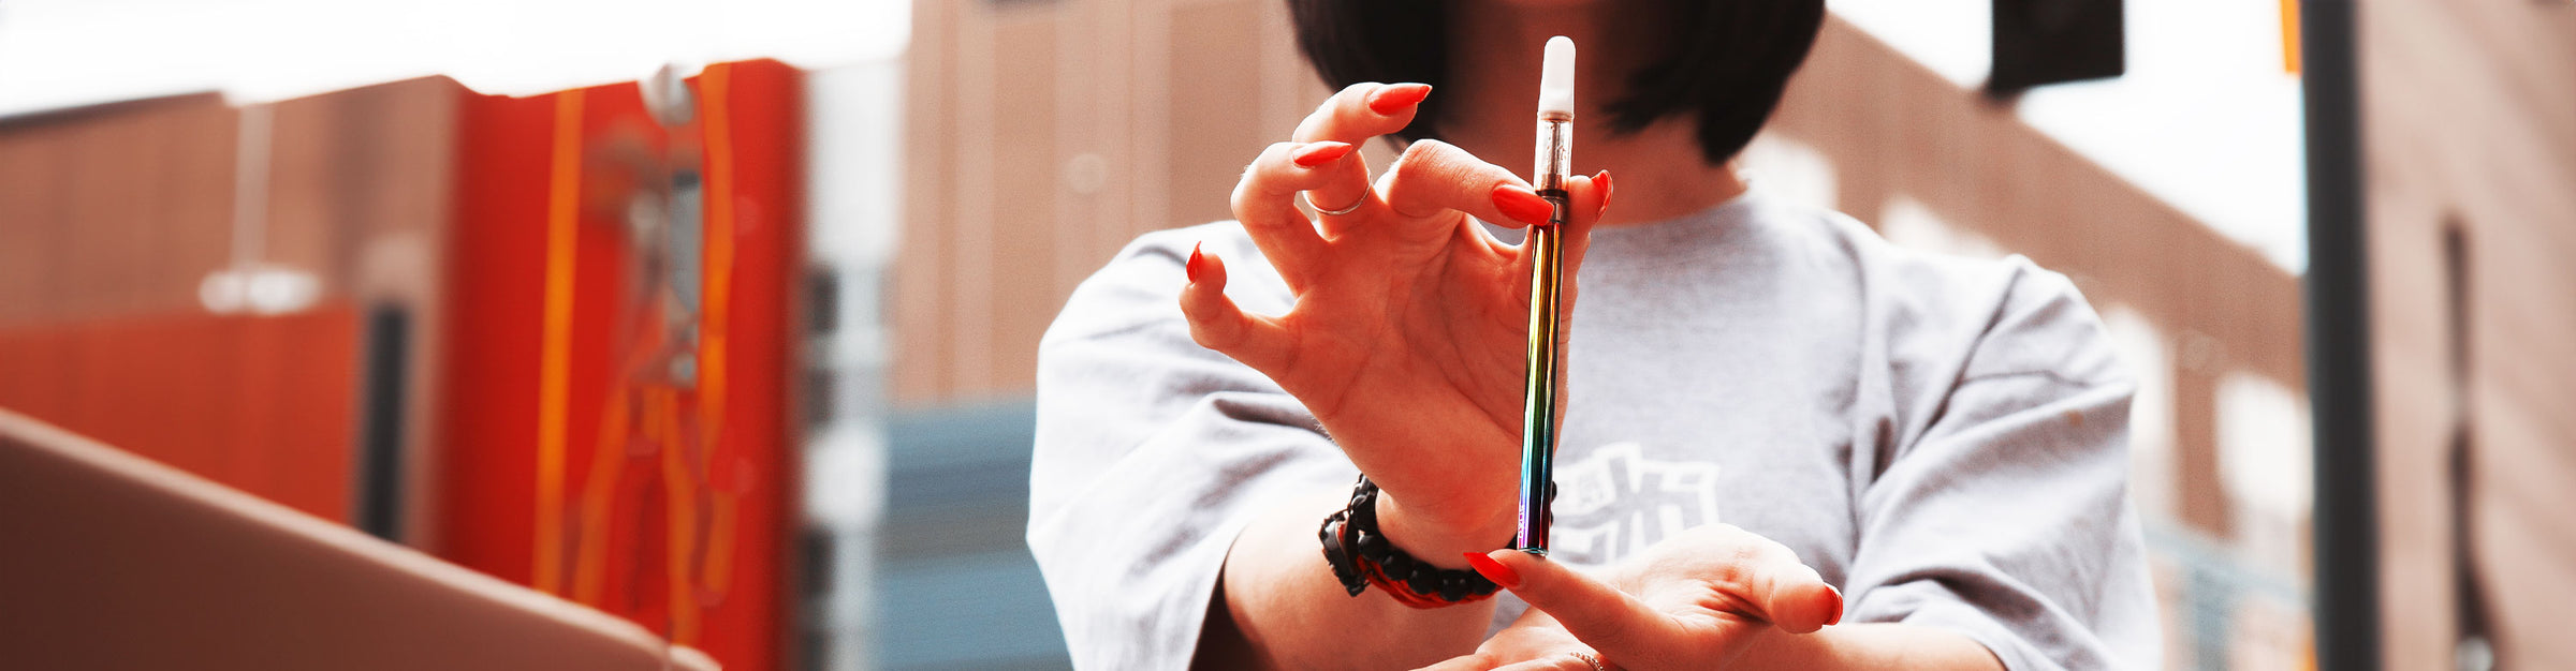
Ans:
[{"label": "plain orange-red wall section at far left, below the brown wall", "polygon": [[358,314],[167,314],[0,332],[0,406],[348,522]]}]

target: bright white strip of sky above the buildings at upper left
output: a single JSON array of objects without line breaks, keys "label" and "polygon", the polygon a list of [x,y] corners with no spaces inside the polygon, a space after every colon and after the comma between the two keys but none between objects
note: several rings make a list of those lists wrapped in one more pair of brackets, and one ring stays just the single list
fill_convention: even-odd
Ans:
[{"label": "bright white strip of sky above the buildings at upper left", "polygon": [[0,116],[198,90],[255,103],[440,72],[544,93],[667,62],[829,67],[894,57],[909,31],[909,0],[5,0]]}]

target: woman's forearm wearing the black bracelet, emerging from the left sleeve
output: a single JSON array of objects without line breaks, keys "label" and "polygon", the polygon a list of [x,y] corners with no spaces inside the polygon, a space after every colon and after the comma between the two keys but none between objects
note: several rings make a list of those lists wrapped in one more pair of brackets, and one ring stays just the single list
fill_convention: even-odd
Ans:
[{"label": "woman's forearm wearing the black bracelet, emerging from the left sleeve", "polygon": [[[1494,617],[1494,602],[1414,609],[1378,589],[1350,596],[1324,563],[1316,530],[1347,504],[1350,491],[1316,491],[1255,519],[1226,553],[1218,599],[1200,635],[1200,668],[1414,668],[1476,650]],[[1463,568],[1468,540],[1450,540],[1406,524],[1401,509],[1381,506],[1378,522],[1399,548],[1443,568]],[[1455,535],[1473,537],[1473,535]],[[1448,548],[1458,545],[1458,548]],[[1486,540],[1484,545],[1492,545]],[[1239,635],[1239,645],[1211,640]],[[1242,658],[1208,658],[1208,656]]]}]

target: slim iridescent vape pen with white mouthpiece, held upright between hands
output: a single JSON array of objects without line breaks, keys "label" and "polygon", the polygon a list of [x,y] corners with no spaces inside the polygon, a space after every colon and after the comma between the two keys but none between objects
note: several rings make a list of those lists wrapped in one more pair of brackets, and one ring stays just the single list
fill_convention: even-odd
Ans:
[{"label": "slim iridescent vape pen with white mouthpiece, held upright between hands", "polygon": [[1515,548],[1548,553],[1548,501],[1556,494],[1556,285],[1564,280],[1564,229],[1571,219],[1566,175],[1574,162],[1574,41],[1548,39],[1538,67],[1538,172],[1530,185],[1556,211],[1548,226],[1530,226],[1530,386],[1520,416],[1520,535]]}]

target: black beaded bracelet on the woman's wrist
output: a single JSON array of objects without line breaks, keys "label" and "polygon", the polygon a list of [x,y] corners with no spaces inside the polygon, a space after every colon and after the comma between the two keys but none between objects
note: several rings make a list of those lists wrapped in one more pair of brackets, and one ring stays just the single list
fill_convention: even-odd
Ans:
[{"label": "black beaded bracelet on the woman's wrist", "polygon": [[1417,560],[1386,540],[1378,532],[1378,483],[1368,476],[1350,488],[1350,506],[1327,514],[1316,535],[1324,540],[1324,563],[1350,596],[1360,596],[1376,581],[1396,602],[1430,609],[1481,602],[1502,589],[1476,571]]}]

